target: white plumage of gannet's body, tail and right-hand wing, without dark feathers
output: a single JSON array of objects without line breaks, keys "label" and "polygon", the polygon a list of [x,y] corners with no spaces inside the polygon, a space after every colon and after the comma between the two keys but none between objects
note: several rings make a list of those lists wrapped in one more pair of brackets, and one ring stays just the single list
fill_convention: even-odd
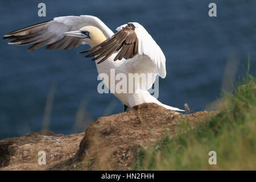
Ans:
[{"label": "white plumage of gannet's body, tail and right-hand wing, without dark feathers", "polygon": [[[125,73],[126,77],[129,77],[129,73],[146,73],[150,75],[147,77],[146,83],[139,81],[135,82],[138,86],[137,93],[126,93],[126,94],[118,94],[113,93],[119,100],[122,101],[123,104],[133,107],[135,105],[154,102],[158,105],[166,107],[166,109],[180,110],[176,107],[171,107],[162,104],[155,97],[151,96],[151,94],[142,88],[143,84],[146,84],[146,89],[150,89],[152,84],[155,82],[156,75],[164,78],[166,77],[166,57],[164,56],[162,50],[156,44],[155,40],[152,39],[151,35],[141,26],[139,23],[134,23],[135,33],[138,38],[138,51],[139,54],[134,56],[132,59],[122,59],[121,61],[113,61],[115,54],[110,56],[106,61],[101,64],[96,64],[98,73],[107,73],[110,77],[109,70],[115,69],[115,74]],[[125,27],[127,24],[123,24],[122,26],[117,27],[117,31],[121,30],[122,27]],[[100,61],[100,60],[98,60]],[[105,80],[105,79],[104,79]],[[113,80],[108,80],[105,82],[106,85]],[[129,81],[129,80],[128,80]],[[117,82],[115,82],[117,84]],[[129,84],[127,84],[127,89],[129,89]]]}]

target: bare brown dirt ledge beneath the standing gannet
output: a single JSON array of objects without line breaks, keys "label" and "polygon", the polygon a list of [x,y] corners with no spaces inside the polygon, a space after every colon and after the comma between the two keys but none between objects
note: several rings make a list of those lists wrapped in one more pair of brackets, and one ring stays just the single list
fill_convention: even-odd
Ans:
[{"label": "bare brown dirt ledge beneath the standing gannet", "polygon": [[[139,148],[176,134],[180,120],[193,124],[217,112],[180,114],[150,103],[125,113],[98,118],[85,134],[61,135],[42,131],[0,141],[0,170],[129,170]],[[80,143],[80,144],[79,144]],[[38,164],[38,151],[47,164]],[[2,168],[1,168],[2,167]]]}]

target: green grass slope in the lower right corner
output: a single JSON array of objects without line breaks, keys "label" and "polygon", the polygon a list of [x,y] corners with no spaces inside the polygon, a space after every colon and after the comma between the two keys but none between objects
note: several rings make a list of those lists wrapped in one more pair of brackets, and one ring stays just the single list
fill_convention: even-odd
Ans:
[{"label": "green grass slope in the lower right corner", "polygon": [[[245,86],[222,96],[220,113],[142,148],[133,169],[255,170],[255,78],[247,74],[238,85]],[[216,151],[216,165],[208,163],[209,151]]]}]

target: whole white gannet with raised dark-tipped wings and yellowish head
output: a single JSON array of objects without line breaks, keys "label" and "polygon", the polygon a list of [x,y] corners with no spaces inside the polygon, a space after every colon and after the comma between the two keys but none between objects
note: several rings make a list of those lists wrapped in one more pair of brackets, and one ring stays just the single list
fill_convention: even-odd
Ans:
[{"label": "whole white gannet with raised dark-tipped wings and yellowish head", "polygon": [[[92,52],[86,57],[95,56],[93,60],[96,60],[99,75],[105,73],[109,76],[109,79],[104,78],[102,81],[123,103],[124,111],[127,107],[149,102],[166,109],[184,111],[162,104],[148,92],[147,89],[154,84],[156,75],[166,77],[166,57],[155,40],[139,23],[123,24],[114,34],[95,16],[60,16],[48,22],[5,34],[3,39],[15,39],[9,44],[33,44],[28,51],[46,44],[46,49],[70,49],[87,43],[91,48],[80,53]],[[117,93],[114,92],[115,87],[110,88],[111,81],[114,81],[114,86],[118,84],[117,80],[110,78],[111,69],[114,69],[115,74],[124,73],[127,77],[129,73],[134,74],[133,92]],[[149,75],[146,81],[138,77],[141,73]],[[131,88],[129,81],[126,85],[122,85],[124,88],[127,87],[127,90],[129,86]]]}]

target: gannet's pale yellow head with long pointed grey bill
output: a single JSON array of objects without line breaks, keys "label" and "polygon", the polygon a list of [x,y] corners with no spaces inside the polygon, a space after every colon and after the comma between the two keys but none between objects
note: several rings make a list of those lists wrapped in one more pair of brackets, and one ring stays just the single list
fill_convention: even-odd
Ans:
[{"label": "gannet's pale yellow head with long pointed grey bill", "polygon": [[89,44],[90,47],[97,46],[106,40],[106,37],[102,31],[94,26],[85,26],[77,31],[65,32],[63,35],[79,38],[85,43]]}]

